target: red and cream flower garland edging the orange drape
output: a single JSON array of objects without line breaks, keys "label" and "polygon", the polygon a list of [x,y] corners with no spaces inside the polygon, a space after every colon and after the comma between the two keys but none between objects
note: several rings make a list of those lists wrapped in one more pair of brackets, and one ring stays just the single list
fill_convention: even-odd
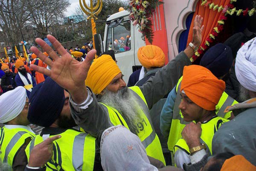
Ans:
[{"label": "red and cream flower garland edging the orange drape", "polygon": [[190,59],[192,62],[195,61],[198,57],[200,57],[200,55],[203,54],[207,48],[209,48],[210,43],[212,43],[213,40],[215,40],[215,37],[218,36],[220,31],[224,29],[225,20],[227,20],[226,16],[228,14],[233,15],[236,13],[237,16],[241,14],[243,14],[243,16],[247,16],[247,14],[249,14],[249,16],[253,16],[253,14],[256,12],[255,8],[251,10],[249,10],[248,8],[245,10],[242,10],[242,9],[236,10],[235,6],[232,4],[233,2],[236,2],[236,1],[237,0],[230,0],[230,4],[228,4],[223,8],[223,6],[215,5],[211,1],[202,0],[201,6],[205,6],[205,7],[209,6],[209,9],[213,9],[213,11],[218,10],[218,12],[224,13],[224,16],[221,16],[220,20],[218,20],[218,26],[213,28],[212,33],[209,34],[209,37],[206,39],[205,43],[192,56],[192,58]]}]

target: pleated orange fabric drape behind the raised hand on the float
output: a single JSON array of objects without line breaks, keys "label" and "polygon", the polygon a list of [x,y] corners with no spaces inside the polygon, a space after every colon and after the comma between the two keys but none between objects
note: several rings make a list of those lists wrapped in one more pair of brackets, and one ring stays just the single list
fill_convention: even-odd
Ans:
[{"label": "pleated orange fabric drape behind the raised hand on the float", "polygon": [[[230,0],[208,0],[211,1],[211,3],[214,3],[218,6],[227,6],[230,4]],[[196,6],[196,11],[194,13],[192,23],[189,29],[189,36],[187,41],[187,46],[192,41],[193,36],[193,27],[194,27],[194,20],[196,15],[201,15],[201,17],[204,17],[204,31],[202,33],[202,43],[201,46],[205,43],[205,40],[209,37],[209,34],[212,33],[213,28],[218,26],[218,20],[221,20],[220,18],[224,16],[224,13],[218,12],[218,10],[213,11],[213,9],[209,9],[209,6],[201,6],[202,1],[198,0],[198,4]]]}]

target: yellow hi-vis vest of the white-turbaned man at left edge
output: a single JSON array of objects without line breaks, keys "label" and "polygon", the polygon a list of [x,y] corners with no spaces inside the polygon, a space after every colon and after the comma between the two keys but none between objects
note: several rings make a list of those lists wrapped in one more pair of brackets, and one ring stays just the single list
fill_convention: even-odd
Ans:
[{"label": "yellow hi-vis vest of the white-turbaned man at left edge", "polygon": [[1,137],[0,144],[2,153],[0,154],[0,158],[2,162],[7,162],[10,166],[12,166],[14,158],[17,152],[20,150],[22,145],[24,145],[25,140],[27,138],[35,137],[35,134],[24,129],[24,128],[1,128]]}]

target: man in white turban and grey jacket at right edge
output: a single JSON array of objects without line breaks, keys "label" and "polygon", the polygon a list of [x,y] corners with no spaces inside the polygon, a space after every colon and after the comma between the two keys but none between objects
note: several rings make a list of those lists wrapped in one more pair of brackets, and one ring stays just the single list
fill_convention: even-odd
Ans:
[{"label": "man in white turban and grey jacket at right edge", "polygon": [[243,103],[230,106],[236,116],[224,123],[212,139],[213,154],[230,152],[243,155],[256,165],[256,39],[242,46],[236,57],[236,77],[241,84]]}]

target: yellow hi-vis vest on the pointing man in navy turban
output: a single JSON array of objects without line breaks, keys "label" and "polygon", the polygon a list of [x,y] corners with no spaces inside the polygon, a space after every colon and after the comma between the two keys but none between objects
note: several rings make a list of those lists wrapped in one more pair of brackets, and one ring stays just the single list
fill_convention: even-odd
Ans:
[{"label": "yellow hi-vis vest on the pointing man in navy turban", "polygon": [[[47,171],[93,171],[96,139],[73,129],[59,135],[61,138],[53,142],[53,155],[46,164]],[[25,150],[28,159],[33,147],[41,142],[43,138],[40,135],[30,142]]]}]

